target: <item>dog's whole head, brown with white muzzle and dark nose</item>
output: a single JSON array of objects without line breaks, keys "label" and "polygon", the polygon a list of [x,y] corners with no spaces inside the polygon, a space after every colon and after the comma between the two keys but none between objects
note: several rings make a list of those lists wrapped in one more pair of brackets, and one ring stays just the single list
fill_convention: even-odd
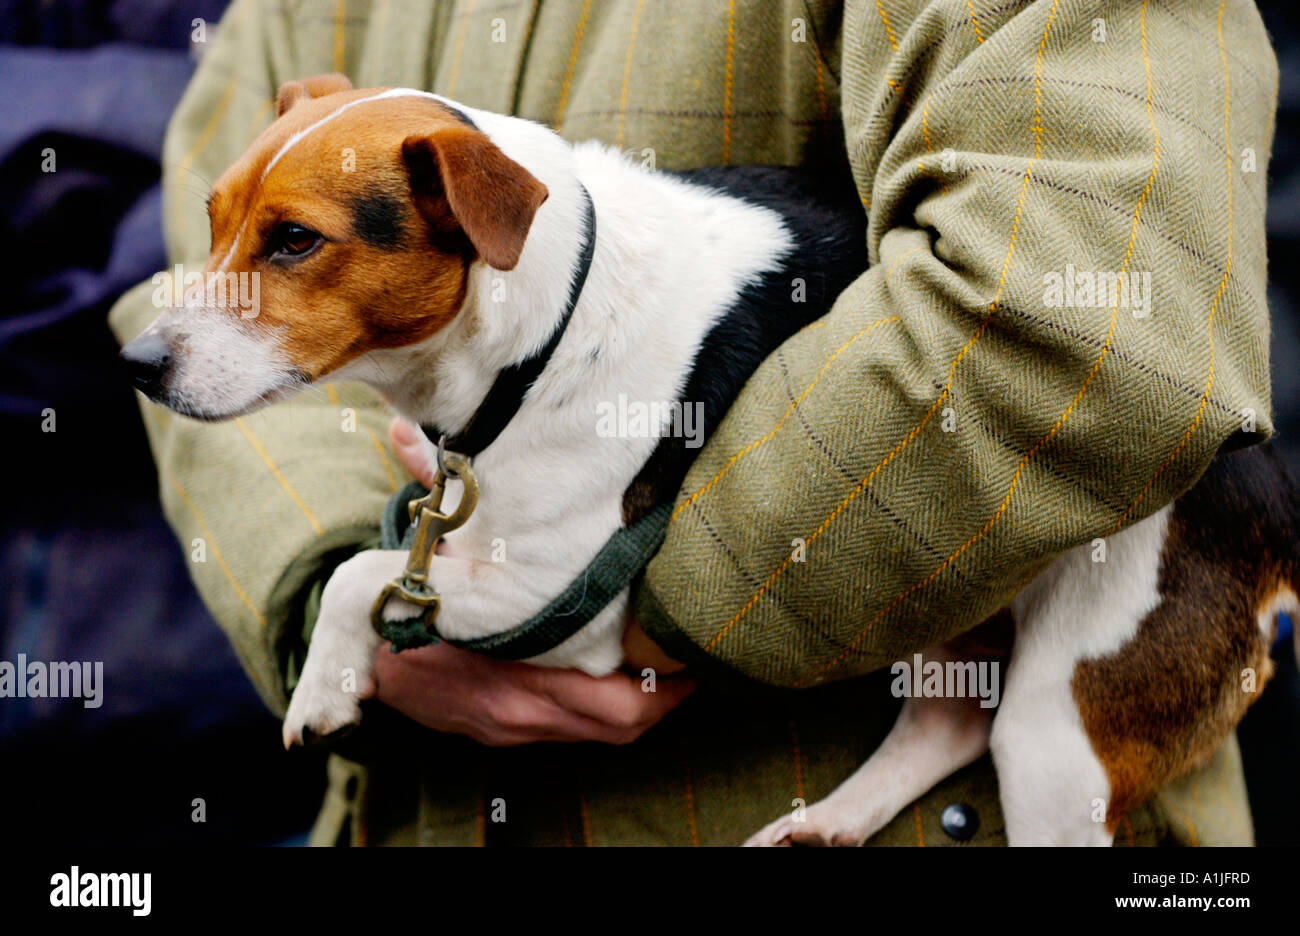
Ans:
[{"label": "dog's whole head, brown with white muzzle and dark nose", "polygon": [[441,99],[322,75],[289,82],[276,105],[212,187],[203,273],[164,281],[162,312],[122,348],[146,395],[198,419],[439,332],[472,263],[514,269],[547,198]]}]

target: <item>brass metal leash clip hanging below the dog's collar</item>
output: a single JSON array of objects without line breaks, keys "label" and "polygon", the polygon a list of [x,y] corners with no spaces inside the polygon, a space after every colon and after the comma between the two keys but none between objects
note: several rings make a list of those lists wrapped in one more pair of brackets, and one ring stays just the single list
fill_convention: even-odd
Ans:
[{"label": "brass metal leash clip hanging below the dog's collar", "polygon": [[[438,540],[464,525],[478,504],[478,478],[474,477],[474,472],[469,467],[469,459],[443,451],[443,442],[445,439],[438,439],[438,473],[433,478],[433,489],[425,497],[416,498],[407,504],[411,523],[415,524],[415,540],[407,554],[406,571],[400,577],[384,586],[370,607],[370,625],[381,637],[387,625],[387,621],[384,620],[384,606],[387,604],[389,598],[400,598],[422,607],[424,612],[417,620],[430,636],[437,637],[433,624],[438,618],[441,602],[438,593],[429,588],[429,562],[433,559]],[[443,514],[439,508],[448,477],[460,478],[464,493],[460,495],[456,510],[451,514]]]}]

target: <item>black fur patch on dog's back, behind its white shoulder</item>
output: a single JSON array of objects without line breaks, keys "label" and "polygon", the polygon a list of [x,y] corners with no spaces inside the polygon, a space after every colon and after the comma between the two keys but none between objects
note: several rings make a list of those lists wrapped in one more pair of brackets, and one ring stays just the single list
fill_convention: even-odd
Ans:
[{"label": "black fur patch on dog's back, behind its white shoulder", "polygon": [[[675,174],[775,211],[794,240],[777,266],[736,296],[699,347],[679,399],[682,406],[703,403],[707,438],[758,365],[786,338],[826,315],[840,292],[866,272],[867,220],[848,179],[831,182],[788,166],[715,166]],[[796,278],[803,280],[805,302],[793,300]],[[624,491],[624,523],[676,497],[699,452],[685,442],[672,437],[659,441]]]}]

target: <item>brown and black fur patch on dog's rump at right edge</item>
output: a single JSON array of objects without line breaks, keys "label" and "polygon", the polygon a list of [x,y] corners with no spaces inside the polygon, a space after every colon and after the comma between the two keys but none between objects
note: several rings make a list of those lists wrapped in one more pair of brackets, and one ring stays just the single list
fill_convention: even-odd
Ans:
[{"label": "brown and black fur patch on dog's rump at right edge", "polygon": [[[1273,675],[1257,618],[1300,576],[1297,504],[1270,447],[1218,458],[1170,515],[1161,603],[1118,653],[1075,666],[1075,702],[1110,781],[1112,832],[1204,763]],[[1254,692],[1243,690],[1247,670]]]}]

